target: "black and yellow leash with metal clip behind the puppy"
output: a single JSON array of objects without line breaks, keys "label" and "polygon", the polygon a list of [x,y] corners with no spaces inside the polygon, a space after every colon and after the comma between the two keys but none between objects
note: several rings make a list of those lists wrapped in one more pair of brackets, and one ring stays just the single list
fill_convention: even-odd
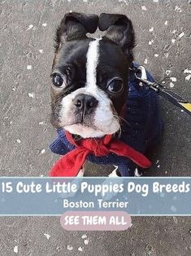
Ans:
[{"label": "black and yellow leash with metal clip behind the puppy", "polygon": [[145,84],[148,88],[156,91],[158,95],[162,96],[164,99],[167,99],[171,104],[176,105],[177,107],[183,109],[186,113],[191,116],[191,103],[188,100],[182,98],[177,93],[167,89],[165,86],[159,84],[158,82],[150,82],[147,80],[146,71],[143,66],[136,67],[132,64],[132,67],[129,68],[130,71],[134,73],[136,79],[140,82],[140,86]]}]

